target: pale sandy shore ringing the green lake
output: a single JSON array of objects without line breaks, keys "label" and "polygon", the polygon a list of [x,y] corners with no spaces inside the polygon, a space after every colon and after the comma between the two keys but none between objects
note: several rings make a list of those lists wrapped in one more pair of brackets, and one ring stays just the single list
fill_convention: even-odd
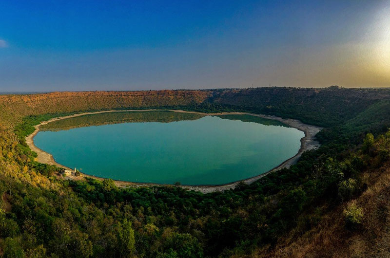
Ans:
[{"label": "pale sandy shore ringing the green lake", "polygon": [[[63,166],[63,165],[57,163],[54,160],[53,155],[51,155],[50,153],[47,153],[47,152],[39,149],[38,147],[36,147],[34,145],[34,136],[37,135],[37,133],[39,132],[39,127],[41,125],[46,125],[47,123],[50,123],[50,122],[53,122],[53,121],[58,121],[58,120],[61,120],[61,119],[66,119],[66,118],[71,118],[71,117],[76,117],[76,116],[81,116],[81,115],[107,113],[107,112],[129,112],[129,111],[145,112],[145,111],[167,111],[167,110],[156,110],[156,109],[153,109],[153,110],[152,109],[151,110],[120,110],[120,111],[118,111],[118,110],[110,110],[110,111],[99,111],[99,112],[85,112],[85,113],[80,113],[80,114],[74,114],[74,115],[68,115],[68,116],[62,116],[62,117],[58,117],[58,118],[53,118],[53,119],[50,119],[50,120],[45,121],[45,122],[42,122],[39,125],[35,126],[35,131],[32,134],[30,134],[30,135],[28,135],[26,137],[26,142],[27,142],[27,145],[33,151],[37,152],[38,157],[36,158],[36,160],[38,162],[46,163],[46,164],[49,164],[49,165],[56,165],[56,166],[59,166],[59,167],[63,167],[65,169],[73,170],[73,169],[71,169],[69,167],[66,167],[66,166]],[[264,174],[261,174],[261,175],[258,175],[258,176],[252,177],[252,178],[248,178],[248,179],[245,179],[245,180],[237,181],[237,182],[234,182],[234,183],[230,183],[230,184],[196,185],[196,186],[193,186],[193,185],[180,185],[180,187],[185,188],[185,189],[189,189],[189,190],[200,191],[200,192],[203,192],[203,193],[210,193],[210,192],[215,192],[215,191],[224,191],[224,190],[228,190],[228,189],[234,189],[235,186],[237,184],[239,184],[240,182],[244,182],[245,184],[251,184],[254,181],[256,181],[256,180],[258,180],[258,179],[268,175],[269,173],[271,173],[273,171],[276,171],[276,170],[279,170],[279,169],[282,169],[282,168],[285,168],[285,167],[286,168],[290,167],[291,165],[295,164],[298,161],[298,159],[301,157],[301,155],[302,155],[302,153],[304,151],[310,150],[310,149],[316,149],[316,148],[319,147],[319,143],[318,143],[318,141],[316,141],[315,135],[322,128],[304,124],[301,121],[296,120],[296,119],[284,119],[284,118],[277,117],[277,116],[252,114],[252,113],[246,113],[246,112],[202,113],[202,112],[183,111],[183,110],[169,110],[169,111],[183,112],[183,113],[195,113],[195,114],[202,114],[202,115],[247,114],[247,115],[253,115],[253,116],[258,116],[258,117],[262,117],[262,118],[267,118],[267,119],[280,121],[280,122],[282,122],[282,123],[284,123],[286,125],[289,125],[289,126],[291,126],[293,128],[301,130],[301,131],[303,131],[305,133],[305,137],[303,137],[301,139],[301,147],[300,147],[298,153],[295,156],[293,156],[292,158],[286,160],[285,162],[283,162],[279,166],[274,167],[273,169],[271,169],[270,171],[268,171],[268,172],[266,172]],[[83,173],[81,173],[81,175],[79,177],[67,176],[66,178],[70,179],[70,180],[84,180],[85,177],[95,178],[95,179],[98,179],[98,180],[104,180],[104,178],[94,177],[94,176],[86,175],[86,174],[83,174]],[[115,181],[115,183],[119,187],[129,187],[129,186],[138,187],[138,186],[152,186],[152,185],[172,186],[172,184],[148,184],[148,183],[140,184],[140,183],[125,182],[125,181]]]}]

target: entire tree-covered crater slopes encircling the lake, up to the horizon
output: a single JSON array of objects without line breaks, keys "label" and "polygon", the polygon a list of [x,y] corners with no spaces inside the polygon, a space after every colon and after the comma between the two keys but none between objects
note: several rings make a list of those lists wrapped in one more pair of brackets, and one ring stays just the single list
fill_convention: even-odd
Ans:
[{"label": "entire tree-covered crater slopes encircling the lake, up to the horizon", "polygon": [[[149,108],[295,118],[324,127],[321,147],[253,184],[202,194],[64,180],[25,143],[53,117]],[[387,89],[0,95],[0,257],[388,257],[389,128]]]}]

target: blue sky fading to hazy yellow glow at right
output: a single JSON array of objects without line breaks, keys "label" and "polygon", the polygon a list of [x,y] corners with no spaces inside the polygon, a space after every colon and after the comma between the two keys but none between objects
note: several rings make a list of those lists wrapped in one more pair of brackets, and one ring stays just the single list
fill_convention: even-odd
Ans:
[{"label": "blue sky fading to hazy yellow glow at right", "polygon": [[1,0],[0,92],[390,87],[390,0]]}]

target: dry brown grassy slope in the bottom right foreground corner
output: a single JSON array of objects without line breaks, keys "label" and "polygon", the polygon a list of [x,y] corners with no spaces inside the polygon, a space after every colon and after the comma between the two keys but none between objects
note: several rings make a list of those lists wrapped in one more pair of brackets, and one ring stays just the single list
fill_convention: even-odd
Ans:
[{"label": "dry brown grassy slope in the bottom right foreground corner", "polygon": [[324,215],[310,231],[292,231],[275,247],[257,250],[251,258],[363,258],[390,257],[390,168],[383,164],[367,172],[368,188],[355,199],[363,208],[362,224],[355,230],[345,226],[343,203]]}]

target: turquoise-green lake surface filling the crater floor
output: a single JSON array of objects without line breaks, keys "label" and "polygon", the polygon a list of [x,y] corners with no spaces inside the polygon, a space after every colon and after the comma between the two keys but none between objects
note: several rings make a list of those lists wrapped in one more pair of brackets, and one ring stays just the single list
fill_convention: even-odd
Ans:
[{"label": "turquoise-green lake surface filling the crater floor", "polygon": [[227,184],[293,157],[304,132],[251,115],[113,112],[40,127],[34,143],[59,164],[116,180]]}]

